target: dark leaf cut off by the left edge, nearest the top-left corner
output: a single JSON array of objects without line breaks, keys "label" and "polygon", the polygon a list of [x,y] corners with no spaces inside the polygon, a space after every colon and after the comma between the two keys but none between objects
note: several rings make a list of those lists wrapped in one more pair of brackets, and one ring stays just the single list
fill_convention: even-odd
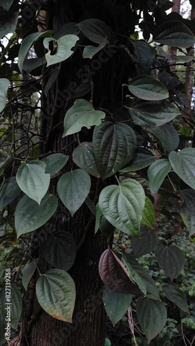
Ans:
[{"label": "dark leaf cut off by the left edge, nearest the top-left corner", "polygon": [[15,33],[17,20],[18,10],[16,10],[15,6],[7,12],[0,9],[0,39],[7,34]]}]

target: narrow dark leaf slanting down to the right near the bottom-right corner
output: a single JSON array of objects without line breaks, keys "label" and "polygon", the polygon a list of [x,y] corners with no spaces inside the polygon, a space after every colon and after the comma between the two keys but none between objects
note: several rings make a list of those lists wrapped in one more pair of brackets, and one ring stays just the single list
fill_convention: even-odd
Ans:
[{"label": "narrow dark leaf slanting down to the right near the bottom-right corner", "polygon": [[162,289],[166,297],[171,300],[171,302],[176,303],[177,307],[189,313],[189,307],[187,304],[185,293],[180,291],[180,289],[178,289],[178,287],[174,284],[163,284]]}]

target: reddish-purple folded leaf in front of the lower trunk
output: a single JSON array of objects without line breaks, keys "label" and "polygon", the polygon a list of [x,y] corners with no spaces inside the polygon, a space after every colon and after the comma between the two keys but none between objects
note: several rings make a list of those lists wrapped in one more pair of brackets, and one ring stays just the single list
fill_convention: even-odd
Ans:
[{"label": "reddish-purple folded leaf in front of the lower trunk", "polygon": [[104,284],[112,291],[129,294],[141,292],[136,284],[131,282],[124,264],[109,248],[100,257],[99,273]]}]

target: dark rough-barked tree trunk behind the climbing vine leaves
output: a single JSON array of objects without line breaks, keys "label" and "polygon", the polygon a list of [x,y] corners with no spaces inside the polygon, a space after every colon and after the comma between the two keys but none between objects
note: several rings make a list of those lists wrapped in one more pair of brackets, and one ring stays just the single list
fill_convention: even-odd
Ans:
[{"label": "dark rough-barked tree trunk behind the climbing vine leaves", "polygon": [[[112,26],[118,33],[128,35],[128,12],[129,1],[74,1],[74,0],[53,0],[48,3],[48,28],[52,26],[62,26],[69,21],[82,21],[87,18],[102,19]],[[119,8],[119,10],[118,10]],[[125,56],[125,58],[124,58]],[[116,69],[116,66],[121,66]],[[82,59],[82,53],[75,52],[75,55],[62,64],[59,77],[50,89],[47,98],[43,94],[42,107],[44,109],[42,134],[45,138],[42,153],[61,151],[69,155],[70,159],[63,172],[75,168],[71,161],[71,154],[77,146],[75,137],[68,136],[62,138],[62,122],[68,108],[73,104],[73,95],[78,93],[78,86],[81,90],[89,90],[86,95],[75,96],[75,98],[93,98],[95,108],[117,110],[121,106],[121,86],[127,82],[131,69],[129,56],[116,53],[113,48],[104,49],[101,59],[95,55],[95,59],[90,61]],[[55,66],[53,69],[55,69]],[[51,69],[52,71],[52,69]],[[48,71],[47,71],[48,72]],[[71,100],[69,96],[72,95]],[[91,140],[91,131],[82,131],[80,141]],[[56,194],[56,185],[59,176],[52,179],[51,192]],[[104,187],[100,179],[92,179],[90,198],[97,203],[98,195]],[[37,251],[42,254],[44,241],[50,236],[51,231],[66,230],[73,235],[77,243],[77,257],[75,264],[68,273],[75,281],[76,302],[73,313],[73,324],[56,320],[40,309],[35,298],[35,284],[32,287],[34,293],[28,296],[32,305],[32,311],[28,311],[23,343],[30,346],[104,346],[106,315],[102,304],[102,281],[98,273],[98,262],[100,255],[106,248],[106,241],[98,232],[94,236],[94,220],[91,217],[89,208],[84,204],[71,217],[68,210],[59,202],[59,207],[54,217],[44,226],[44,230],[37,232],[39,244]],[[49,266],[41,260],[40,271],[44,273]],[[36,280],[35,280],[36,281]],[[31,291],[32,291],[31,289]],[[29,321],[28,321],[29,320]],[[27,323],[28,322],[28,323]],[[26,344],[27,345],[27,344]]]}]

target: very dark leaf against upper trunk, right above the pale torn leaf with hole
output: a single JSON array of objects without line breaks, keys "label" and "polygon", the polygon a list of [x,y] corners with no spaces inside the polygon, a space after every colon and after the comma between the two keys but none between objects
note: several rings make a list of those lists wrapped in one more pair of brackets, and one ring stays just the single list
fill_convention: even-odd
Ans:
[{"label": "very dark leaf against upper trunk, right above the pale torn leaf with hole", "polygon": [[[77,24],[77,27],[80,28],[82,33],[97,44],[101,44],[106,37],[109,39],[111,30],[104,21],[100,19],[86,19]],[[109,41],[107,41],[109,43]]]}]

